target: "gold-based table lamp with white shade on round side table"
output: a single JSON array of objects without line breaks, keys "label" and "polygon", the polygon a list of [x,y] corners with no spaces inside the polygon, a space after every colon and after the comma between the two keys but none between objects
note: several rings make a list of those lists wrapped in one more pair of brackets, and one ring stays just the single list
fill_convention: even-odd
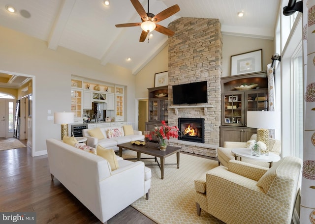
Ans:
[{"label": "gold-based table lamp with white shade on round side table", "polygon": [[275,111],[248,111],[247,127],[257,128],[257,141],[266,144],[269,151],[269,129],[276,129],[279,126],[280,116]]}]

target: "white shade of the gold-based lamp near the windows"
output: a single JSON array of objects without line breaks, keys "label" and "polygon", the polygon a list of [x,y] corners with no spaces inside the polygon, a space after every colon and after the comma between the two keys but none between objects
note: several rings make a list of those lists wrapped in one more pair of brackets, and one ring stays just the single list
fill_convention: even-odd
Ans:
[{"label": "white shade of the gold-based lamp near the windows", "polygon": [[277,129],[280,127],[280,113],[275,111],[248,111],[247,127]]}]

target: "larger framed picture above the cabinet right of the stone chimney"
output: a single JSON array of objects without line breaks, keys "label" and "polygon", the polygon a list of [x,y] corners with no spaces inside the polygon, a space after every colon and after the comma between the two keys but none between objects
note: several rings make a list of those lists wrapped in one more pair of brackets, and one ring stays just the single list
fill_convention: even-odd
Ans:
[{"label": "larger framed picture above the cabinet right of the stone chimney", "polygon": [[262,70],[262,49],[231,56],[231,76]]}]

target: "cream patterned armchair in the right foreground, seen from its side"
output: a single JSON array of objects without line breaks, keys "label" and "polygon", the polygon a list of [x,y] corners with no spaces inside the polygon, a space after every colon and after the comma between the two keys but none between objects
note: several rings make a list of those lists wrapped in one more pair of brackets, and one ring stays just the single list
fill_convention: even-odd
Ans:
[{"label": "cream patterned armchair in the right foreground, seen from its side", "polygon": [[271,168],[236,160],[213,168],[195,180],[197,214],[226,224],[290,224],[301,167],[301,159],[285,157]]}]

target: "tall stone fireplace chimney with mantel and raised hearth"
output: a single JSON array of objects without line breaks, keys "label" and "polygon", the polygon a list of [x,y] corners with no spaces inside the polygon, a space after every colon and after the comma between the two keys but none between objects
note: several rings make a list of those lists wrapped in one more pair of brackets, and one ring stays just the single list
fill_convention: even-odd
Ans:
[{"label": "tall stone fireplace chimney with mantel and raised hearth", "polygon": [[[179,118],[204,119],[203,142],[172,140],[182,151],[217,157],[221,124],[222,34],[218,19],[179,18],[168,28],[168,124]],[[208,103],[173,105],[172,86],[207,81]]]}]

